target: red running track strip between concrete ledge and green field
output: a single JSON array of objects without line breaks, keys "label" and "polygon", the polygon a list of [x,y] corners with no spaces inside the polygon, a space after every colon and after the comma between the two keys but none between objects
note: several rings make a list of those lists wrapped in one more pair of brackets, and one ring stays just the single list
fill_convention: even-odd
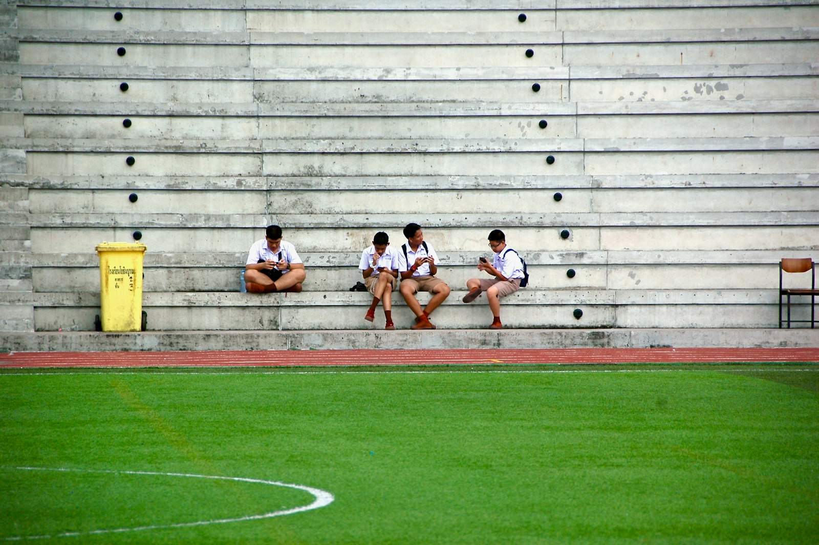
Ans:
[{"label": "red running track strip between concrete ledge and green field", "polygon": [[819,363],[807,348],[543,348],[502,350],[225,350],[201,352],[10,352],[0,368],[426,366],[491,363]]}]

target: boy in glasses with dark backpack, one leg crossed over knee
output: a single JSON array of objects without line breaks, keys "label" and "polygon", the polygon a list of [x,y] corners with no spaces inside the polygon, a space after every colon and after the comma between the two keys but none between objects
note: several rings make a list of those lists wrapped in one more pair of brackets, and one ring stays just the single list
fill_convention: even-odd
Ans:
[{"label": "boy in glasses with dark backpack, one leg crossed over knee", "polygon": [[471,278],[466,282],[469,293],[464,295],[463,302],[473,302],[481,292],[486,292],[489,308],[492,311],[492,325],[489,329],[503,329],[500,323],[500,297],[515,293],[520,288],[523,279],[523,261],[518,252],[506,246],[506,235],[500,229],[494,229],[489,234],[489,247],[495,252],[491,264],[481,257],[477,263],[477,270],[483,270],[493,276],[492,279]]}]

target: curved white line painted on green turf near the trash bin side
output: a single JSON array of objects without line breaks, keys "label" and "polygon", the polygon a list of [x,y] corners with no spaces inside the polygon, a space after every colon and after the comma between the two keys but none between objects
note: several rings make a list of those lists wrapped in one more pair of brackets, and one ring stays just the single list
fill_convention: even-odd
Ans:
[{"label": "curved white line painted on green turf near the trash bin side", "polygon": [[280,483],[278,481],[271,481],[271,480],[264,480],[264,479],[249,479],[247,477],[222,477],[219,475],[193,475],[189,473],[161,473],[157,471],[117,471],[117,470],[74,470],[68,468],[54,468],[54,467],[16,467],[13,468],[16,470],[29,470],[29,471],[71,471],[77,473],[109,473],[114,475],[160,475],[165,477],[192,477],[196,479],[223,479],[223,480],[234,480],[234,481],[241,481],[243,483],[258,483],[258,484],[269,484],[271,486],[283,486],[286,488],[295,488],[296,490],[304,490],[307,493],[312,494],[315,497],[314,502],[310,503],[310,505],[306,506],[299,506],[299,507],[292,507],[291,509],[283,509],[281,511],[270,511],[269,513],[262,513],[260,515],[246,515],[246,516],[239,516],[230,519],[216,519],[216,520],[197,520],[194,522],[179,522],[174,525],[147,525],[147,526],[135,526],[133,528],[112,528],[112,529],[98,529],[98,530],[90,530],[88,532],[64,532],[62,534],[54,534],[54,535],[35,535],[35,536],[15,536],[11,538],[3,538],[4,541],[20,541],[22,539],[46,539],[46,538],[67,538],[72,536],[78,535],[97,535],[97,534],[115,534],[115,533],[122,533],[122,532],[138,532],[141,530],[154,530],[154,529],[169,529],[169,528],[187,528],[189,526],[205,526],[205,525],[223,525],[229,522],[243,522],[245,520],[260,520],[260,519],[269,519],[274,516],[283,516],[283,515],[292,515],[294,513],[301,513],[302,511],[311,511],[313,509],[319,509],[324,506],[328,506],[329,504],[333,503],[333,500],[336,498],[333,494],[328,493],[326,490],[322,490],[320,488],[313,488],[310,486],[304,486],[303,484],[289,484],[289,483]]}]

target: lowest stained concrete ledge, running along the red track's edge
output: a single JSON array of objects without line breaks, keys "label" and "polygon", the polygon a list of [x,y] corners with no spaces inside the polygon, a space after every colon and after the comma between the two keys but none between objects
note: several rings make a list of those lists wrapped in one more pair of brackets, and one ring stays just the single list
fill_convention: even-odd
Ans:
[{"label": "lowest stained concrete ledge, running along the red track's edge", "polygon": [[815,347],[811,329],[436,329],[433,331],[83,331],[2,333],[14,351],[309,350],[351,348]]}]

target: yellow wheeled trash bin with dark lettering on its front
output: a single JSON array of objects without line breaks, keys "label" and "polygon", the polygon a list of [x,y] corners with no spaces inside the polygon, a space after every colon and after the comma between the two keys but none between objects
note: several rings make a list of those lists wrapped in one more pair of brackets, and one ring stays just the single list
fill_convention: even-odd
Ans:
[{"label": "yellow wheeled trash bin with dark lettering on its front", "polygon": [[146,249],[142,243],[97,244],[102,331],[143,329],[143,257]]}]

